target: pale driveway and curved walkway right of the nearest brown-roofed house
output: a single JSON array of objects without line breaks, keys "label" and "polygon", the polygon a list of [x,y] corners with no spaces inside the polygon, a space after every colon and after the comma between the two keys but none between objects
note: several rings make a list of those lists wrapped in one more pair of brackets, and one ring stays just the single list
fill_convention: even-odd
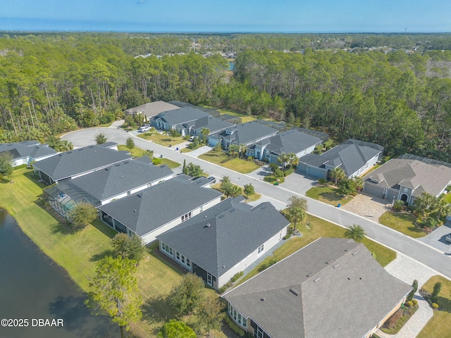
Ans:
[{"label": "pale driveway and curved walkway right of the nearest brown-roofed house", "polygon": [[[385,266],[385,270],[398,279],[412,285],[414,280],[418,280],[418,288],[426,283],[429,278],[437,275],[435,271],[430,268],[412,260],[411,258],[397,253],[395,261]],[[407,323],[402,327],[397,334],[386,334],[378,330],[376,334],[382,338],[414,338],[423,329],[424,325],[432,318],[433,311],[431,306],[416,292],[414,298],[418,301],[419,308],[412,315]]]}]

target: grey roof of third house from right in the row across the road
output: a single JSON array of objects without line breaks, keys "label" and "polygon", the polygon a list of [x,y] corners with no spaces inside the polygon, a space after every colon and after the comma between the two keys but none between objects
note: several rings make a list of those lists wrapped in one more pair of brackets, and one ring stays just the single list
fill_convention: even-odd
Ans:
[{"label": "grey roof of third house from right in the row across the road", "polygon": [[266,146],[266,149],[276,155],[282,153],[297,154],[299,151],[303,151],[304,149],[323,142],[319,137],[299,132],[299,130],[280,132],[276,136],[271,137],[269,141],[271,143]]}]

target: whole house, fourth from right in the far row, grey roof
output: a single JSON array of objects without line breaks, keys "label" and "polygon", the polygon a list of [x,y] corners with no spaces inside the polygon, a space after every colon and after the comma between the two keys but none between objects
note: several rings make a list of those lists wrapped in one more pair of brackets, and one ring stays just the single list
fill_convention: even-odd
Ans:
[{"label": "whole house, fourth from right in the far row, grey roof", "polygon": [[263,154],[263,144],[268,144],[268,139],[276,135],[278,130],[267,127],[257,121],[250,121],[240,125],[233,125],[222,132],[212,134],[209,137],[209,144],[216,146],[221,142],[224,149],[228,149],[230,144],[244,144],[247,146],[247,156],[261,158]]}]

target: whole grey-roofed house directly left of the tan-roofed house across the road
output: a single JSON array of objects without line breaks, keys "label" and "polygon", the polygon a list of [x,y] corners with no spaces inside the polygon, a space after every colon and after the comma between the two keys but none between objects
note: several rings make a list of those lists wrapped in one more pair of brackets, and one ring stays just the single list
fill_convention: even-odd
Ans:
[{"label": "whole grey-roofed house directly left of the tan-roofed house across the road", "polygon": [[383,146],[348,139],[321,155],[308,154],[299,158],[297,169],[319,178],[328,178],[330,170],[342,168],[346,177],[358,177],[369,170],[382,157]]}]

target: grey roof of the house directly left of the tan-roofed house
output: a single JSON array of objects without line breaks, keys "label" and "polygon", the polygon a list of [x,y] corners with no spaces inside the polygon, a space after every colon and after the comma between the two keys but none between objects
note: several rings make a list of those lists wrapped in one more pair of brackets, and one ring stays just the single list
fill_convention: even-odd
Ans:
[{"label": "grey roof of the house directly left of the tan-roofed house", "polygon": [[318,168],[324,168],[324,165],[340,166],[345,171],[345,175],[349,176],[362,168],[371,158],[382,153],[383,146],[348,139],[321,155],[307,154],[302,156],[299,162]]}]

